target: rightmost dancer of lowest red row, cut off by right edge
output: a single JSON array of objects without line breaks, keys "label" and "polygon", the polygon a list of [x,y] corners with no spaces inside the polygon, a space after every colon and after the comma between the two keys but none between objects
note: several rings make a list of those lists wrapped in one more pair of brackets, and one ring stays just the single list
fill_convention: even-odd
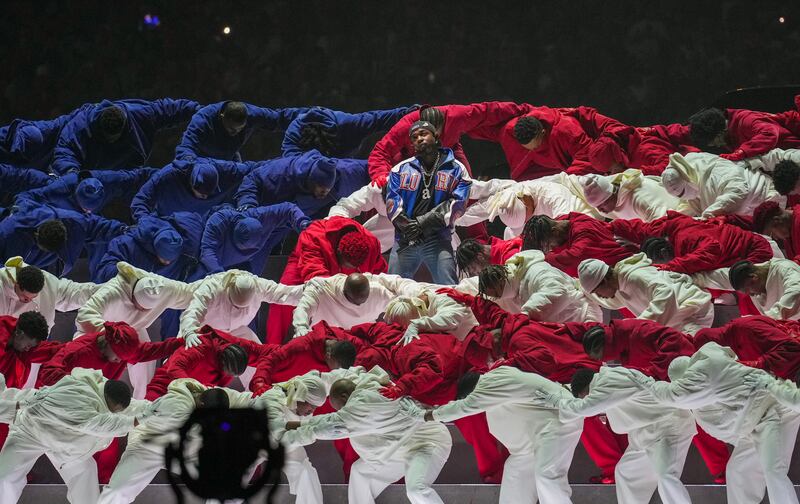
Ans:
[{"label": "rightmost dancer of lowest red row, cut off by right edge", "polygon": [[800,323],[756,315],[733,319],[694,335],[700,348],[709,341],[730,347],[742,364],[795,380],[800,370]]}]

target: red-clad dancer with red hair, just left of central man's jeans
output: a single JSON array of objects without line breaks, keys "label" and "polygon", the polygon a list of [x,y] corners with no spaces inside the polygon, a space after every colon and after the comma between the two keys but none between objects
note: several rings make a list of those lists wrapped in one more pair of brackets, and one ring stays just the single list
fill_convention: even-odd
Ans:
[{"label": "red-clad dancer with red hair, just left of central man's jeans", "polygon": [[[385,273],[381,244],[358,222],[346,217],[314,221],[297,238],[280,283],[300,285],[314,277],[337,273]],[[280,344],[292,324],[294,307],[271,305],[267,343]]]}]

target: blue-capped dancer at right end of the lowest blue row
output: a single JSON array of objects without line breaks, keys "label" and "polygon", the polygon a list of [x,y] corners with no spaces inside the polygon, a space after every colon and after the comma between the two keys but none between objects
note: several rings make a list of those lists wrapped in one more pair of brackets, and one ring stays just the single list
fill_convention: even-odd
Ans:
[{"label": "blue-capped dancer at right end of the lowest blue row", "polygon": [[239,211],[223,208],[206,222],[200,244],[205,274],[241,269],[260,275],[272,249],[290,230],[300,233],[311,219],[294,203]]}]

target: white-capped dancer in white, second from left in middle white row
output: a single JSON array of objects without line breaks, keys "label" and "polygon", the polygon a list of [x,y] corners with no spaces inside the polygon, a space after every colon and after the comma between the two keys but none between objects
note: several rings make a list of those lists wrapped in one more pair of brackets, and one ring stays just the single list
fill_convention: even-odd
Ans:
[{"label": "white-capped dancer in white, second from left in middle white row", "polygon": [[[136,329],[139,341],[150,341],[147,329],[164,310],[183,310],[189,306],[195,287],[177,280],[148,273],[126,262],[117,263],[117,276],[102,284],[78,309],[76,337],[103,330],[105,322],[126,322]],[[133,397],[144,399],[153,378],[156,361],[128,365]]]}]

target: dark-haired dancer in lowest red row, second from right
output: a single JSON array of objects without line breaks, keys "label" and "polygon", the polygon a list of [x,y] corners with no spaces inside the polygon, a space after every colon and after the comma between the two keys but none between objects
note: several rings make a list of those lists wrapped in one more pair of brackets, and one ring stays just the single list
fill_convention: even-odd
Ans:
[{"label": "dark-haired dancer in lowest red row, second from right", "polygon": [[[695,352],[688,335],[651,320],[612,320],[608,325],[570,322],[566,326],[573,339],[582,342],[589,357],[603,362],[616,360],[659,380],[669,378],[669,364],[676,357],[691,356]],[[722,481],[730,458],[725,443],[700,427],[693,441],[711,474]]]}]

